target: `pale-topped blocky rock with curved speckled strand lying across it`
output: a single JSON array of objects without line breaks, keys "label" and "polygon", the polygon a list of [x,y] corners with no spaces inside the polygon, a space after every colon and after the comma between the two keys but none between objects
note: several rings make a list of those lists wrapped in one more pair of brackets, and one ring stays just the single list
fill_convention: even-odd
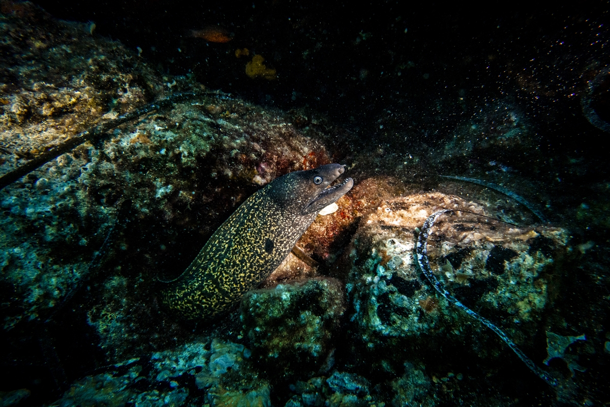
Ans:
[{"label": "pale-topped blocky rock with curved speckled strand lying across it", "polygon": [[[343,258],[353,306],[350,336],[361,341],[353,352],[370,353],[362,360],[383,371],[397,372],[397,361],[415,361],[448,344],[480,358],[505,350],[495,334],[439,298],[412,258],[417,228],[442,208],[486,214],[479,204],[442,193],[393,198],[362,218]],[[428,253],[455,297],[528,347],[550,304],[548,286],[567,239],[560,228],[517,227],[458,212],[437,221]]]}]

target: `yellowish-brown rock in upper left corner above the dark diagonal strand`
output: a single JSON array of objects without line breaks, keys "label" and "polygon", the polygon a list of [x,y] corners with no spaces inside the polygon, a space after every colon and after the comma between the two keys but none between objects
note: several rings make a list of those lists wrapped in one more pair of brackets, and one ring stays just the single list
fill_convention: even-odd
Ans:
[{"label": "yellowish-brown rock in upper left corner above the dark diagonal strand", "polygon": [[30,2],[0,9],[3,173],[163,92],[159,74],[91,23],[58,21]]}]

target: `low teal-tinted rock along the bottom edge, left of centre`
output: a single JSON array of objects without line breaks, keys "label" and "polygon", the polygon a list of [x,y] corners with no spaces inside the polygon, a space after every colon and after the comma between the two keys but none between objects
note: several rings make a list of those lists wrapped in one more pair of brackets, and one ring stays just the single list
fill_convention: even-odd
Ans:
[{"label": "low teal-tinted rock along the bottom edge, left of centre", "polygon": [[[270,386],[258,378],[243,345],[203,339],[131,359],[86,376],[58,406],[270,406]],[[193,385],[194,383],[194,385]]]}]

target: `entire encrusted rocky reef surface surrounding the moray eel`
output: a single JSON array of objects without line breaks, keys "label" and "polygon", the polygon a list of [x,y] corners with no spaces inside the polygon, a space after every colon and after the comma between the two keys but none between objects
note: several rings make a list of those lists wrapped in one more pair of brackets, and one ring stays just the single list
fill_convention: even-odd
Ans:
[{"label": "entire encrusted rocky reef surface surrounding the moray eel", "polygon": [[[57,20],[29,2],[0,5],[10,56],[0,62],[0,175],[95,124],[195,93],[0,190],[2,367],[12,376],[0,387],[2,405],[603,400],[610,336],[606,303],[595,304],[607,302],[608,253],[598,242],[610,189],[596,181],[574,204],[528,177],[545,156],[522,104],[491,101],[434,151],[396,141],[413,113],[380,118],[375,125],[393,139],[367,142],[314,110],[255,104],[193,74],[157,70],[92,23]],[[520,159],[495,162],[500,149]],[[163,282],[251,193],[330,162],[346,165],[353,190],[239,308],[201,323],[163,308]],[[448,170],[523,192],[551,223],[501,193],[437,177]],[[417,267],[419,228],[441,209],[464,212],[432,228],[434,274],[558,386],[437,294]]]}]

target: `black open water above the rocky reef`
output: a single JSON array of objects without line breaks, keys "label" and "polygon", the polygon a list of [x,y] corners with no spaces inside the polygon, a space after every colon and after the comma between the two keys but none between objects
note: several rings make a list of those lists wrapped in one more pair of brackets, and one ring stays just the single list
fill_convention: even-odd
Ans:
[{"label": "black open water above the rocky reef", "polygon": [[[192,73],[212,89],[288,110],[309,107],[367,145],[434,148],[456,123],[503,99],[536,122],[539,148],[603,159],[581,109],[585,82],[608,63],[608,2],[502,7],[400,2],[38,1],[57,18],[93,21],[96,34],[142,49],[160,71]],[[192,29],[221,27],[208,43]],[[275,81],[252,81],[237,48],[260,54]],[[598,115],[610,118],[608,84]],[[391,113],[389,113],[391,112]],[[400,116],[396,133],[379,121]],[[402,136],[402,137],[401,137]],[[498,151],[498,156],[501,152]],[[515,160],[515,157],[507,157]],[[589,164],[587,164],[589,165]],[[587,171],[604,179],[605,166]],[[561,169],[559,169],[561,170]]]}]

